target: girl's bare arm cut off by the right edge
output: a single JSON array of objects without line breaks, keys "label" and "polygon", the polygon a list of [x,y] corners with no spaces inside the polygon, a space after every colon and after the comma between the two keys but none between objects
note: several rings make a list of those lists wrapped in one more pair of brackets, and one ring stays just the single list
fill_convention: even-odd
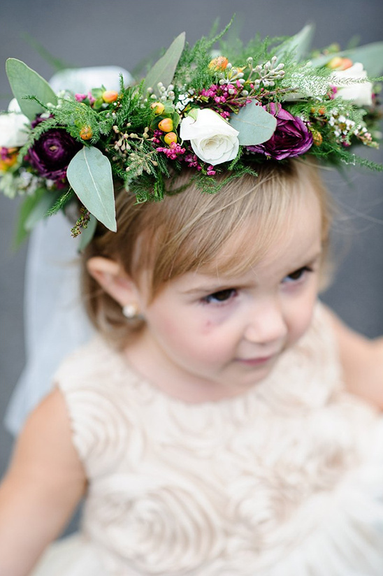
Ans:
[{"label": "girl's bare arm cut off by the right edge", "polygon": [[335,337],[347,389],[383,410],[383,338],[370,340],[350,329],[326,308]]}]

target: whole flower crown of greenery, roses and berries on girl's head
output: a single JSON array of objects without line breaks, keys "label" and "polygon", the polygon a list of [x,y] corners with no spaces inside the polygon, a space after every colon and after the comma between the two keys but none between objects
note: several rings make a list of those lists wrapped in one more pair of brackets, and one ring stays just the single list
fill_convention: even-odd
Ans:
[{"label": "whole flower crown of greenery, roses and berries on girl's head", "polygon": [[193,48],[180,34],[145,80],[125,85],[121,75],[117,90],[56,94],[26,64],[8,59],[17,102],[0,115],[0,189],[25,196],[19,236],[77,197],[72,233],[84,229],[85,244],[97,220],[116,230],[114,180],[138,202],[158,200],[184,166],[205,192],[222,186],[222,171],[226,182],[256,174],[270,159],[303,154],[381,168],[353,148],[377,147],[383,43],[310,53],[310,25],[248,45],[222,41],[224,32]]}]

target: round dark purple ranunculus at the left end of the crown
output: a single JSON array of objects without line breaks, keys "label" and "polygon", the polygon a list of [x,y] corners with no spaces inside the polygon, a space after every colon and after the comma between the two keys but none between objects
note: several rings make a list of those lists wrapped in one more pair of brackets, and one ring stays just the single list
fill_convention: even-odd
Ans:
[{"label": "round dark purple ranunculus at the left end of the crown", "polygon": [[50,180],[61,180],[66,168],[81,144],[62,128],[52,128],[41,134],[29,148],[27,159],[39,175]]}]

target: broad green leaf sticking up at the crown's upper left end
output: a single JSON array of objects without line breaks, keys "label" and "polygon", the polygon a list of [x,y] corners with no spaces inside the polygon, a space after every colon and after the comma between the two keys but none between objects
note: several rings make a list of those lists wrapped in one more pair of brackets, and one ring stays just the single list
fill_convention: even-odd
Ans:
[{"label": "broad green leaf sticking up at the crown's upper left end", "polygon": [[25,100],[25,96],[36,96],[45,105],[57,104],[57,96],[48,82],[21,60],[8,58],[6,73],[13,96],[29,120],[34,120],[37,114],[45,112],[45,108],[36,100]]}]

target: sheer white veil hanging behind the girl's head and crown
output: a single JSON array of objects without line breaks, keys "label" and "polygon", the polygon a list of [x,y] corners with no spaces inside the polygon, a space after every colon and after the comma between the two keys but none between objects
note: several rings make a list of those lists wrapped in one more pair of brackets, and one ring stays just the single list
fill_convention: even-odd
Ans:
[{"label": "sheer white veil hanging behind the girl's head and crown", "polygon": [[[131,75],[116,66],[61,71],[50,80],[59,92],[66,88],[87,93],[103,84],[119,89]],[[25,350],[27,363],[10,398],[6,428],[17,434],[28,413],[47,394],[62,359],[92,335],[82,309],[78,240],[62,213],[43,219],[31,233],[24,291]]]}]

